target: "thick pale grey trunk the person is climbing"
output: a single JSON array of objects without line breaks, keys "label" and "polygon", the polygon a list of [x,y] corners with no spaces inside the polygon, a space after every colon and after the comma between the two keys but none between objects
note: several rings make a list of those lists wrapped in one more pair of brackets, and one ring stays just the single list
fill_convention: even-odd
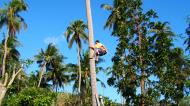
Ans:
[{"label": "thick pale grey trunk the person is climbing", "polygon": [[[92,16],[91,16],[91,7],[90,0],[86,0],[86,14],[88,19],[88,33],[89,33],[89,47],[94,46],[93,38],[93,27],[92,27]],[[96,71],[95,71],[95,60],[94,60],[94,50],[90,49],[90,75],[91,75],[91,88],[92,88],[92,106],[99,105],[98,100],[98,91],[96,84]]]}]

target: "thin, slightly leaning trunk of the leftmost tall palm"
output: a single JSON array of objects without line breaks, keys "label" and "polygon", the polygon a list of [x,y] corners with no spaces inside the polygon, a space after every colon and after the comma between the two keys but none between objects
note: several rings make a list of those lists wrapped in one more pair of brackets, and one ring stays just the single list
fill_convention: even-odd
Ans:
[{"label": "thin, slightly leaning trunk of the leftmost tall palm", "polygon": [[3,55],[3,70],[2,70],[2,77],[5,75],[5,65],[6,65],[6,58],[7,58],[7,41],[9,39],[9,29],[7,31],[5,42],[4,42],[4,55]]}]

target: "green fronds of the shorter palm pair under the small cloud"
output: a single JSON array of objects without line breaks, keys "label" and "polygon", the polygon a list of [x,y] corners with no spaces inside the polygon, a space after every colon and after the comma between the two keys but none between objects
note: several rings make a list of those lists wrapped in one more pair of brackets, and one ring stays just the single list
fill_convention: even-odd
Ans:
[{"label": "green fronds of the shorter palm pair under the small cloud", "polygon": [[68,82],[69,76],[65,74],[65,68],[62,64],[65,57],[59,53],[55,45],[49,44],[45,51],[41,49],[39,54],[35,55],[35,59],[40,67],[38,75],[42,71],[46,71],[42,78],[41,87],[46,87],[49,81],[52,81],[53,88],[62,87],[64,83]]}]

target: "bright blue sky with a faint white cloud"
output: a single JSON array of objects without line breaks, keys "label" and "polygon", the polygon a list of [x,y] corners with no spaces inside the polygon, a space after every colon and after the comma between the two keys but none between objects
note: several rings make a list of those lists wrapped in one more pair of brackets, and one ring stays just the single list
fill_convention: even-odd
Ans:
[{"label": "bright blue sky with a faint white cloud", "polygon": [[[108,54],[104,56],[105,62],[100,64],[103,67],[112,65],[111,57],[114,55],[117,42],[116,38],[110,36],[111,31],[103,28],[109,12],[101,9],[100,5],[111,4],[112,1],[91,0],[94,39],[99,39],[108,49]],[[22,13],[22,16],[28,24],[28,29],[18,35],[19,41],[22,43],[22,46],[19,47],[22,58],[33,58],[40,48],[45,49],[48,43],[53,42],[68,58],[65,63],[77,63],[76,46],[68,49],[63,34],[70,22],[77,19],[87,22],[85,0],[26,0],[26,2],[29,9]],[[185,36],[184,30],[188,25],[186,17],[190,15],[190,0],[143,0],[143,3],[145,11],[154,9],[160,17],[159,20],[168,21],[176,34]],[[2,31],[0,33],[2,34]],[[0,38],[2,39],[2,36]],[[175,45],[183,47],[183,40],[175,40]],[[27,71],[37,69],[37,65],[32,65]],[[98,74],[98,77],[106,83],[106,76],[103,73]],[[118,102],[121,101],[116,89],[112,87],[107,86],[103,90],[98,86],[98,90],[104,96],[109,96]],[[66,87],[65,91],[70,91],[70,87]]]}]

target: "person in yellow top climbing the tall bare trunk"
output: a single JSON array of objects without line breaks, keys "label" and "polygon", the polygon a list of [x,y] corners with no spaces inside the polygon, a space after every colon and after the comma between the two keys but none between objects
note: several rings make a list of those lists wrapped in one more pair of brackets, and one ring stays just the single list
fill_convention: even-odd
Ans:
[{"label": "person in yellow top climbing the tall bare trunk", "polygon": [[94,47],[90,47],[95,52],[95,60],[98,61],[99,56],[103,56],[107,53],[106,47],[100,43],[99,40],[95,41]]}]

